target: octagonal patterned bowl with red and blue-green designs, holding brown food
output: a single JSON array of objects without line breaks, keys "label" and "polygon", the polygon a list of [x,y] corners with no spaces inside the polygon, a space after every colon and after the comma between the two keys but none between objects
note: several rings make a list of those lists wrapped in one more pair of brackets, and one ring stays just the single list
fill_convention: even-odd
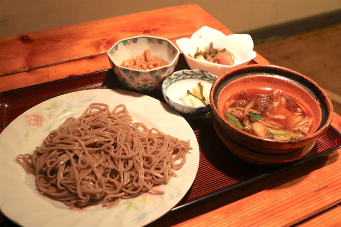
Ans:
[{"label": "octagonal patterned bowl with red and blue-green designs, holding brown food", "polygon": [[[151,70],[121,66],[124,60],[142,55],[145,49],[150,49],[152,57],[164,61],[167,65]],[[112,69],[123,85],[140,93],[151,93],[159,91],[164,78],[174,72],[180,51],[167,39],[136,36],[117,41],[107,54]]]}]

